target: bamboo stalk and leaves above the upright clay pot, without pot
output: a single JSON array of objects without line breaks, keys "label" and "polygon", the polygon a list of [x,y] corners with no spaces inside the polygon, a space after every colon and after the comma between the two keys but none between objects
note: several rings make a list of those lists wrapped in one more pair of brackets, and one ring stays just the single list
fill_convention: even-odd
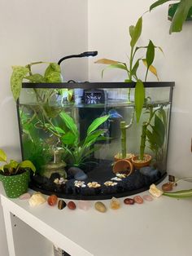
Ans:
[{"label": "bamboo stalk and leaves above the upright clay pot, without pot", "polygon": [[[162,150],[164,146],[164,138],[166,135],[166,113],[162,107],[155,108],[152,104],[146,105],[146,113],[149,114],[147,121],[142,123],[142,135],[140,143],[140,155],[139,160],[144,159],[144,152],[146,148],[146,139],[150,144],[150,148],[155,152],[155,158],[159,157],[159,150]],[[159,116],[158,116],[159,113]],[[151,121],[154,120],[154,125]],[[162,156],[163,154],[161,154]]]}]

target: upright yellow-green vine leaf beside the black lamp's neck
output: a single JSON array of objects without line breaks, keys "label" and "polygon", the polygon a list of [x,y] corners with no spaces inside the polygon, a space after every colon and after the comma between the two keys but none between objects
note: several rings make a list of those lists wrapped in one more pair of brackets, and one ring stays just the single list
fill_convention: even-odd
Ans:
[{"label": "upright yellow-green vine leaf beside the black lamp's neck", "polygon": [[59,64],[50,63],[44,74],[46,82],[61,82],[61,70]]}]

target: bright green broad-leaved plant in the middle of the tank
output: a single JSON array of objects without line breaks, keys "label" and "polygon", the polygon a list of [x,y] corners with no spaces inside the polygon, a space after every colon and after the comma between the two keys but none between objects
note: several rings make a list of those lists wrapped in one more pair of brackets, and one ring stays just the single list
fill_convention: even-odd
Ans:
[{"label": "bright green broad-leaved plant in the middle of the tank", "polygon": [[[99,140],[107,139],[104,134],[107,129],[99,129],[107,119],[109,115],[96,118],[88,127],[86,137],[83,141],[80,141],[80,134],[77,129],[75,121],[67,113],[60,113],[60,117],[68,130],[60,128],[60,140],[63,144],[63,148],[68,152],[68,161],[72,166],[80,166],[85,164],[90,155],[98,150],[98,147],[94,146],[94,143]],[[66,161],[67,162],[67,161]]]}]

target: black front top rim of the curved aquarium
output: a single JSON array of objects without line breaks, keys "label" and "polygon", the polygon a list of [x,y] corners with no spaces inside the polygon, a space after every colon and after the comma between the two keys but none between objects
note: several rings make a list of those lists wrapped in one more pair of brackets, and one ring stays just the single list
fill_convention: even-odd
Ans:
[{"label": "black front top rim of the curved aquarium", "polygon": [[[153,87],[173,87],[175,82],[143,82],[146,88]],[[136,82],[52,82],[52,83],[33,83],[23,82],[22,88],[34,89],[99,89],[99,88],[135,88]]]}]

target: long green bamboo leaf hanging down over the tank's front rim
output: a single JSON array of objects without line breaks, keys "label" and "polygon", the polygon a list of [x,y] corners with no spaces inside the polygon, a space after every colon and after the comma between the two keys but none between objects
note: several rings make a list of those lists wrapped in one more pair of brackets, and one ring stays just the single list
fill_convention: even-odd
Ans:
[{"label": "long green bamboo leaf hanging down over the tank's front rim", "polygon": [[136,86],[135,86],[135,113],[136,113],[136,119],[137,123],[140,120],[141,114],[142,114],[142,107],[145,100],[145,88],[143,85],[143,82],[141,80],[137,80]]}]

